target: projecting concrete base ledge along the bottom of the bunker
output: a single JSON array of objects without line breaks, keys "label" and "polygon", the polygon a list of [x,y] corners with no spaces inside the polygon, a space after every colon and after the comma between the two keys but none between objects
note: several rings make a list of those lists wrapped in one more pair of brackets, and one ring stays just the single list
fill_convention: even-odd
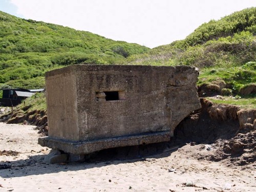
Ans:
[{"label": "projecting concrete base ledge along the bottom of the bunker", "polygon": [[149,143],[165,142],[170,140],[169,132],[148,133],[134,136],[123,136],[91,141],[70,141],[52,137],[38,138],[41,146],[47,146],[54,150],[61,150],[65,153],[85,155],[106,148],[141,145]]}]

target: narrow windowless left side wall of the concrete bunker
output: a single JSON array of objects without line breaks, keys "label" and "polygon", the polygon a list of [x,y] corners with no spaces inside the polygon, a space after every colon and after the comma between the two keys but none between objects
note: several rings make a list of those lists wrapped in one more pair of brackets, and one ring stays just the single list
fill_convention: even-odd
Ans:
[{"label": "narrow windowless left side wall of the concrete bunker", "polygon": [[46,88],[49,136],[79,140],[75,74],[66,69],[49,76]]}]

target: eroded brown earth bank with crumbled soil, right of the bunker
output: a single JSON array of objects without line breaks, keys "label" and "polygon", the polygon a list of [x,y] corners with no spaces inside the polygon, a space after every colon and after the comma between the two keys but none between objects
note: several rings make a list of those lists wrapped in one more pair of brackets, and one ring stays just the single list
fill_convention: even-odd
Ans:
[{"label": "eroded brown earth bank with crumbled soil, right of the bunker", "polygon": [[206,99],[201,99],[201,104],[201,110],[176,127],[174,142],[195,145],[190,153],[197,159],[223,161],[228,166],[255,162],[256,110]]}]

